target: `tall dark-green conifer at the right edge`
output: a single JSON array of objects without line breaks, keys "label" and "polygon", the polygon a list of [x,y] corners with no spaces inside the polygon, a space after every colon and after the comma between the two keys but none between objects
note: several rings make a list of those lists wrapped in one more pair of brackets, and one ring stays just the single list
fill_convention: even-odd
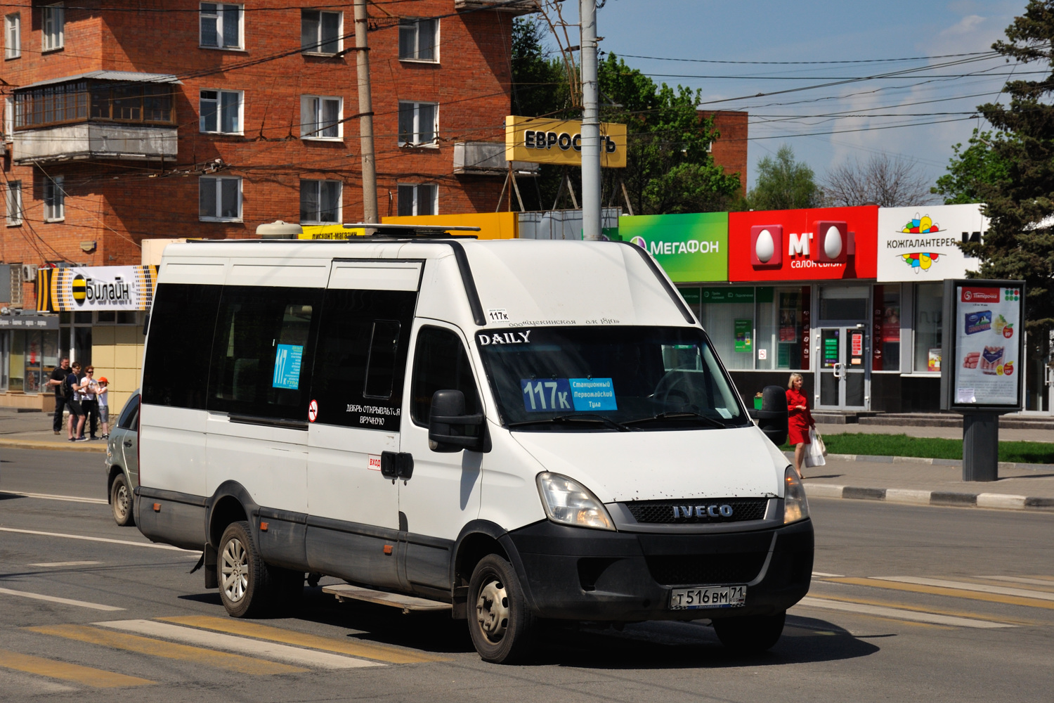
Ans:
[{"label": "tall dark-green conifer at the right edge", "polygon": [[[1030,0],[992,48],[1018,63],[1038,63],[1043,76],[1003,86],[1009,105],[978,111],[999,132],[990,141],[1000,165],[990,180],[974,180],[990,222],[983,241],[963,245],[981,260],[985,278],[1023,279],[1026,329],[1032,353],[1042,358],[1054,328],[1054,2]],[[968,150],[969,151],[969,150]],[[1030,346],[1032,346],[1030,344]]]}]

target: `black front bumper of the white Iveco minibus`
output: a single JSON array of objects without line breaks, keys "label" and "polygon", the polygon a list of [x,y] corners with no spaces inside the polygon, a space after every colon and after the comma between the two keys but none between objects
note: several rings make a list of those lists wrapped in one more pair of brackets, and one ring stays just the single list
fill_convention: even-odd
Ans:
[{"label": "black front bumper of the white Iveco minibus", "polygon": [[[813,523],[744,532],[608,532],[534,523],[503,540],[525,594],[542,618],[699,620],[774,614],[808,592]],[[747,584],[736,608],[670,610],[683,586]]]}]

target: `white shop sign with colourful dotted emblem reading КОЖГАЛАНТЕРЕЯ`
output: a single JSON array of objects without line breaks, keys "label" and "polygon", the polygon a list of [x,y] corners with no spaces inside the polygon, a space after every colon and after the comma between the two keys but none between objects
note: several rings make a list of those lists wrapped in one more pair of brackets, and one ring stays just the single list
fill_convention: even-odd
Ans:
[{"label": "white shop sign with colourful dotted emblem reading \u041a\u041e\u0416\u0413\u0410\u041b\u0410\u041d\u0422\u0415\u0420\u0415\u042f", "polygon": [[980,241],[988,229],[979,203],[881,208],[878,211],[878,280],[923,282],[964,278],[977,270],[961,241]]}]

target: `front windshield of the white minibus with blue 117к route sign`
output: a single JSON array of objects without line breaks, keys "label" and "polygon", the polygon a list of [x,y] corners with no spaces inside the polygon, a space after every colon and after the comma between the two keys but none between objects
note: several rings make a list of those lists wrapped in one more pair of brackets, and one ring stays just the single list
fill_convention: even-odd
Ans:
[{"label": "front windshield of the white minibus with blue 117\u043a route sign", "polygon": [[513,431],[722,429],[750,423],[698,328],[481,330],[475,344]]}]

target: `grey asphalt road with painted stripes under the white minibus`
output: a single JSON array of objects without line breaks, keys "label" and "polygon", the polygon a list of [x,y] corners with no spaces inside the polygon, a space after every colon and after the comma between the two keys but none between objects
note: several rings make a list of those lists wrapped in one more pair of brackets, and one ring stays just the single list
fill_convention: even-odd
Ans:
[{"label": "grey asphalt road with painted stripes under the white minibus", "polygon": [[[4,451],[0,491],[104,499],[97,458]],[[959,703],[1050,700],[1054,681],[1050,514],[816,500],[814,585],[770,652],[730,656],[705,622],[578,626],[550,632],[530,665],[494,666],[464,623],[319,589],[291,618],[227,618],[188,573],[197,553],[116,527],[102,501],[12,492],[3,701]]]}]

